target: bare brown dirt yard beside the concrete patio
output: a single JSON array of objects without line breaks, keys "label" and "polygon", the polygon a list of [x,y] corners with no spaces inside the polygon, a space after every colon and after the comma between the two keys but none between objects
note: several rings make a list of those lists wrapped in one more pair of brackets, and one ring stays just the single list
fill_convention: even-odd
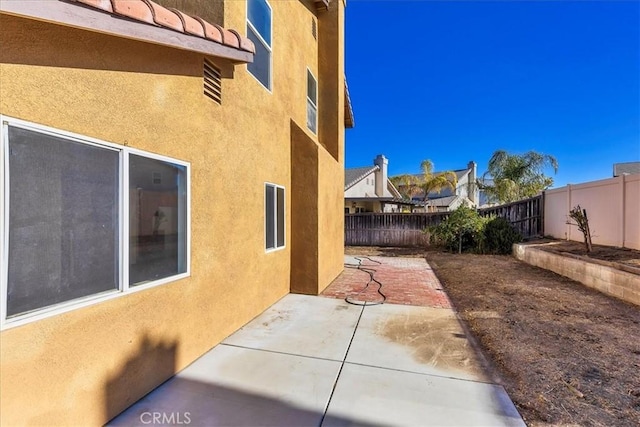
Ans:
[{"label": "bare brown dirt yard beside the concrete patio", "polygon": [[640,307],[510,256],[346,252],[426,257],[528,425],[640,425]]}]

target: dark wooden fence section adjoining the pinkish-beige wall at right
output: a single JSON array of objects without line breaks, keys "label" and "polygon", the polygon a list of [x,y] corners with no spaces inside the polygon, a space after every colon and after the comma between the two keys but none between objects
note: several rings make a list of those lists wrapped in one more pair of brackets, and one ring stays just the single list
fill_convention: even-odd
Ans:
[{"label": "dark wooden fence section adjoining the pinkish-beige wall at right", "polygon": [[482,216],[495,215],[509,221],[525,239],[544,235],[544,196],[519,200],[506,205],[478,209]]}]

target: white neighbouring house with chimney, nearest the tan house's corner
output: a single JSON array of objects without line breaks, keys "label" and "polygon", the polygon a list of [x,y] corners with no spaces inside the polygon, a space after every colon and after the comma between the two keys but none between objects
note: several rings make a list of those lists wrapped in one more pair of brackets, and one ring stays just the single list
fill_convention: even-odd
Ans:
[{"label": "white neighbouring house with chimney, nearest the tan house's corner", "polygon": [[402,196],[388,177],[389,160],[379,154],[373,166],[345,169],[344,212],[400,212]]}]

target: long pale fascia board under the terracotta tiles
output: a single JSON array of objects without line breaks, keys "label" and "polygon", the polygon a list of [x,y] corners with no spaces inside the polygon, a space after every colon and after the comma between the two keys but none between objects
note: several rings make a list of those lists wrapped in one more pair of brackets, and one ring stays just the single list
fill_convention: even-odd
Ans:
[{"label": "long pale fascia board under the terracotta tiles", "polygon": [[198,52],[232,64],[253,62],[251,52],[62,1],[2,0],[0,13]]}]

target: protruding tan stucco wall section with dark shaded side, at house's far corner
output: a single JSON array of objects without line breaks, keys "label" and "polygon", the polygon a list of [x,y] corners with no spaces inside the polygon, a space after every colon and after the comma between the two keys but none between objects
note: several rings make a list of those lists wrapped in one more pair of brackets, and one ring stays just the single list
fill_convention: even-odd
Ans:
[{"label": "protruding tan stucco wall section with dark shaded side, at house's far corner", "polygon": [[292,237],[295,293],[319,294],[344,266],[343,57],[344,5],[331,2],[318,14],[318,137],[304,126],[306,110],[291,124],[292,221],[304,226]]}]

